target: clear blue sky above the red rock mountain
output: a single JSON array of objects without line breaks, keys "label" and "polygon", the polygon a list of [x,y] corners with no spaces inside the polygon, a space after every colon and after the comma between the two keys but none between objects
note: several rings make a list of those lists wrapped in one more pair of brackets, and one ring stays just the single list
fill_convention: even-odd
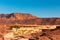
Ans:
[{"label": "clear blue sky above the red rock mountain", "polygon": [[60,17],[60,0],[0,0],[1,13],[30,13],[38,17]]}]

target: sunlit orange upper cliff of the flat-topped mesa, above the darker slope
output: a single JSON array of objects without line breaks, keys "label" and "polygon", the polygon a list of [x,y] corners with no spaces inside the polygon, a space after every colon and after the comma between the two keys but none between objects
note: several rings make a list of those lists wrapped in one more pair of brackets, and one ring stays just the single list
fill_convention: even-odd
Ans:
[{"label": "sunlit orange upper cliff of the flat-topped mesa, above the darker slope", "polygon": [[23,14],[23,13],[12,13],[12,14],[0,14],[0,19],[5,20],[26,20],[26,19],[34,19],[36,16],[32,16],[31,14]]}]

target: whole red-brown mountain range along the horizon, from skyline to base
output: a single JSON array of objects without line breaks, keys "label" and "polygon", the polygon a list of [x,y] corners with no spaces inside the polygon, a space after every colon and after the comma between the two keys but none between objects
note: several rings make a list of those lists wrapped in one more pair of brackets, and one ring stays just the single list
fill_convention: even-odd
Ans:
[{"label": "whole red-brown mountain range along the horizon, from skyline to base", "polygon": [[12,13],[0,14],[0,24],[38,24],[38,25],[59,25],[60,18],[38,18],[31,14]]}]

